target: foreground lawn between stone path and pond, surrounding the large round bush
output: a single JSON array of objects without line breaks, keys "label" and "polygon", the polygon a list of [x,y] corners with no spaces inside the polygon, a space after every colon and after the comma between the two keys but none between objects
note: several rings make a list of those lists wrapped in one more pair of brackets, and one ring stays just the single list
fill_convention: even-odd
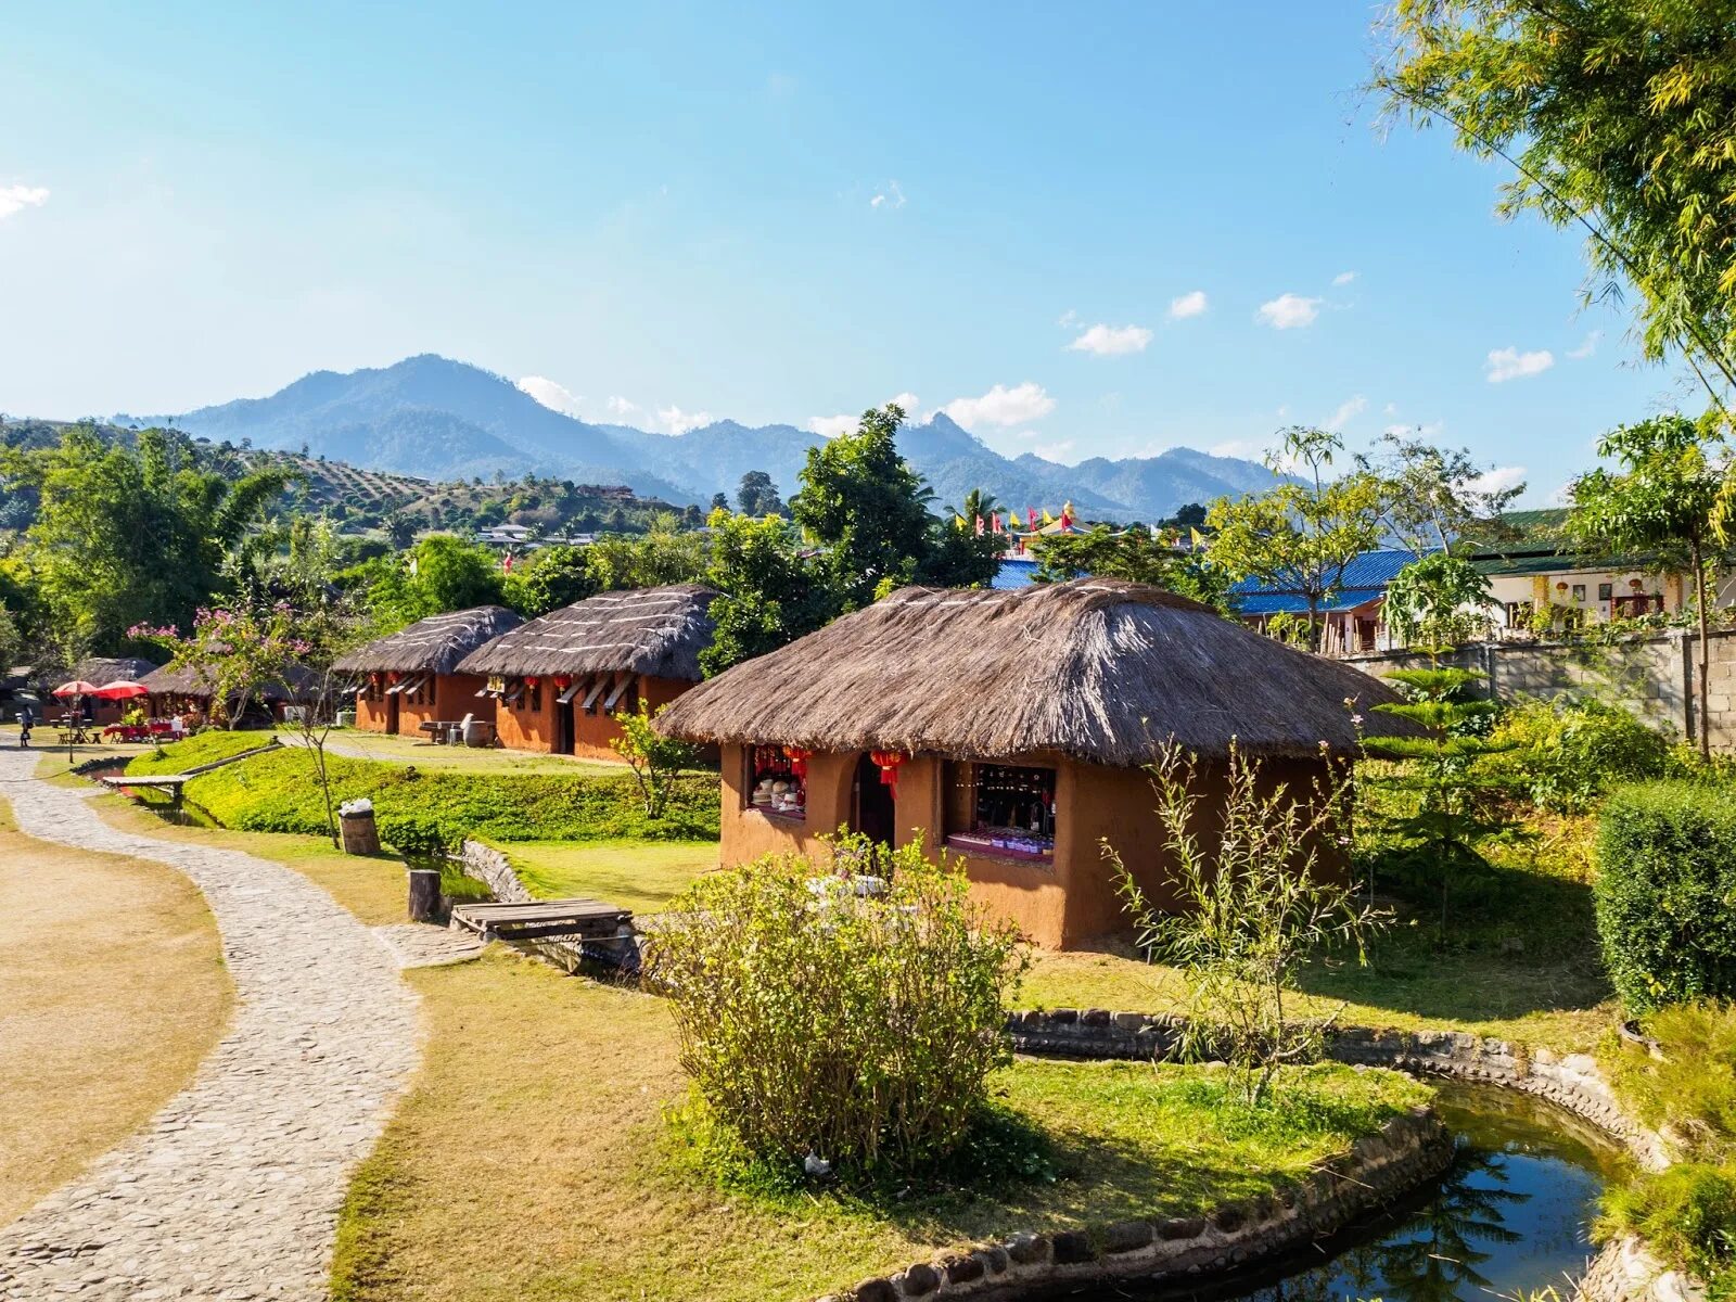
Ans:
[{"label": "foreground lawn between stone path and pond, surrounding the large round bush", "polygon": [[667,1137],[686,1085],[661,1000],[502,946],[408,979],[429,1040],[342,1212],[332,1293],[347,1302],[809,1299],[1016,1229],[1259,1194],[1430,1097],[1311,1068],[1285,1080],[1311,1102],[1248,1120],[1201,1069],[1021,1061],[995,1088],[1049,1132],[1059,1179],[769,1201],[719,1187]]}]

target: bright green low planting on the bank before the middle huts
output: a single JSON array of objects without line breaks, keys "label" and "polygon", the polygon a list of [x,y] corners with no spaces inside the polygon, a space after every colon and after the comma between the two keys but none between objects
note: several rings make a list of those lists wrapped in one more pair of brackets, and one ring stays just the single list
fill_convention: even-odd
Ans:
[{"label": "bright green low planting on the bank before the middle huts", "polygon": [[[387,830],[413,838],[457,844],[488,840],[715,840],[719,785],[710,776],[675,781],[663,818],[646,818],[632,774],[524,773],[493,774],[457,769],[417,769],[406,764],[326,755],[333,800],[373,800],[382,837]],[[312,776],[312,759],[283,746],[200,774],[186,799],[226,828],[241,832],[326,832],[325,799]]]}]

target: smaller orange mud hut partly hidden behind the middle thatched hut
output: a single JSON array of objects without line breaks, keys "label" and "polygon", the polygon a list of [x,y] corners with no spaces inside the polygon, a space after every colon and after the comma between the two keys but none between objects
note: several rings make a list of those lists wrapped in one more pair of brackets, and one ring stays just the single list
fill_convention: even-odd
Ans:
[{"label": "smaller orange mud hut partly hidden behind the middle thatched hut", "polygon": [[460,672],[458,661],[521,623],[505,606],[476,606],[431,615],[351,651],[333,668],[361,679],[356,727],[415,734],[425,722],[460,722],[465,715],[495,722],[483,679]]}]

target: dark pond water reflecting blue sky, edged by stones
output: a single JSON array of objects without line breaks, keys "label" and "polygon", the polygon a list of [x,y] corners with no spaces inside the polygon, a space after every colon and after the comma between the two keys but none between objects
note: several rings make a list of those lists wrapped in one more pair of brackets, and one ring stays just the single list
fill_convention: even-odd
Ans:
[{"label": "dark pond water reflecting blue sky, edged by stones", "polygon": [[1262,1274],[1210,1290],[1099,1286],[1092,1302],[1489,1302],[1547,1286],[1568,1299],[1595,1252],[1590,1224],[1623,1153],[1571,1113],[1493,1087],[1441,1085],[1458,1158],[1434,1184]]}]

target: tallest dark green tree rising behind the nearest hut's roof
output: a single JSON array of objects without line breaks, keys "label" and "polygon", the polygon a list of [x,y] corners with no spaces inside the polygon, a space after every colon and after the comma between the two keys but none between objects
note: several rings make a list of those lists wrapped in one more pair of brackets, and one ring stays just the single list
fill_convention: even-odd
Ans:
[{"label": "tallest dark green tree rising behind the nearest hut's roof", "polygon": [[790,500],[795,523],[825,549],[821,566],[845,611],[913,582],[930,549],[924,483],[898,453],[903,420],[887,403],[865,411],[854,434],[809,448]]}]

